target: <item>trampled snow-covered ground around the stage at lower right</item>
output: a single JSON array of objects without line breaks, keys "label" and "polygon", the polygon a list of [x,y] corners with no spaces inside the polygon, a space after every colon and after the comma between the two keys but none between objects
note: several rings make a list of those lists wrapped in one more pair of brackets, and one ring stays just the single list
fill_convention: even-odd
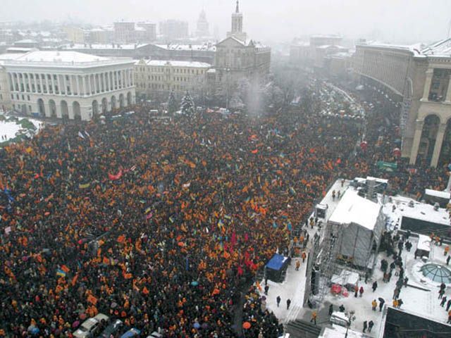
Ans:
[{"label": "trampled snow-covered ground around the stage at lower right", "polygon": [[[343,193],[348,185],[348,181],[345,183],[345,187],[341,187],[340,181],[335,182],[323,201],[321,201],[321,204],[328,205],[326,219],[330,217],[330,215],[332,215],[339,201],[337,198],[335,198],[335,200],[332,199],[332,190],[335,189],[335,192],[338,192],[340,190]],[[392,204],[388,203],[388,199],[386,199],[385,201],[387,203],[385,204],[383,210],[385,213],[388,213],[388,223],[394,225],[393,223],[396,223],[398,218],[400,218],[400,214],[398,213],[402,213],[402,208],[399,208],[399,211],[396,210],[395,212],[393,212]],[[408,203],[408,201],[402,202]],[[397,200],[393,199],[393,203],[396,204]],[[399,207],[400,204],[397,204],[397,206]],[[406,208],[409,207],[406,206]],[[435,211],[435,213],[437,213],[437,211]],[[443,215],[436,215],[436,217],[443,218]],[[319,230],[317,227],[314,227],[313,230],[308,227],[308,231],[310,237],[313,238],[314,233]],[[411,251],[407,252],[406,249],[402,251],[402,261],[404,263],[404,266],[406,267],[405,275],[409,278],[409,282],[408,286],[402,287],[402,290],[400,292],[400,299],[402,299],[403,301],[400,309],[404,309],[412,313],[417,313],[423,317],[426,316],[446,323],[447,311],[445,311],[445,308],[440,306],[440,300],[438,299],[438,284],[428,281],[421,274],[421,272],[419,272],[419,268],[424,264],[424,262],[421,261],[420,258],[417,258],[416,260],[414,258],[414,251],[416,249],[418,238],[410,237],[409,241],[413,244]],[[309,241],[309,246],[307,246],[307,249],[309,249],[310,245],[311,240]],[[444,248],[445,244],[443,244],[443,246],[431,245],[431,255],[427,263],[438,263],[441,265],[446,265],[446,256],[444,256],[443,254]],[[305,269],[307,260],[306,263],[301,263],[299,271],[296,271],[296,261],[299,259],[301,258],[294,258],[292,260],[291,265],[288,266],[285,281],[283,283],[276,283],[268,280],[269,290],[266,299],[266,306],[269,311],[273,311],[273,313],[282,323],[288,323],[289,321],[296,319],[303,319],[308,321],[311,318],[312,310],[302,307],[305,292]],[[371,333],[366,332],[366,334],[367,337],[378,337],[378,333],[381,327],[382,313],[379,312],[378,308],[376,308],[376,311],[372,311],[371,301],[373,301],[373,299],[376,299],[377,303],[379,304],[378,298],[383,298],[386,305],[392,306],[393,292],[395,290],[395,284],[398,278],[397,276],[395,276],[395,270],[393,270],[393,276],[391,277],[390,282],[383,282],[383,273],[381,271],[382,259],[388,261],[389,265],[393,262],[393,258],[388,258],[385,252],[378,254],[376,268],[374,269],[373,275],[368,280],[368,283],[365,284],[364,278],[361,278],[361,280],[359,281],[359,287],[364,287],[364,294],[362,297],[357,296],[357,298],[355,298],[353,292],[350,292],[349,296],[347,297],[328,293],[323,303],[321,304],[321,307],[319,309],[316,309],[316,311],[318,311],[317,322],[319,324],[328,322],[328,306],[330,303],[333,304],[335,311],[338,310],[338,307],[340,305],[343,305],[345,306],[346,312],[355,312],[355,320],[351,325],[352,330],[362,332],[364,321],[366,320],[367,322],[369,322],[370,320],[373,320],[373,330]],[[376,292],[373,292],[373,290],[371,289],[371,285],[374,281],[378,282],[378,288],[376,289]],[[264,281],[261,281],[261,285],[262,287],[264,287]],[[277,296],[280,296],[281,299],[279,307],[276,303]],[[451,287],[447,287],[445,296],[447,296],[447,299],[451,299]],[[289,310],[287,310],[286,305],[287,299],[291,300]]]}]

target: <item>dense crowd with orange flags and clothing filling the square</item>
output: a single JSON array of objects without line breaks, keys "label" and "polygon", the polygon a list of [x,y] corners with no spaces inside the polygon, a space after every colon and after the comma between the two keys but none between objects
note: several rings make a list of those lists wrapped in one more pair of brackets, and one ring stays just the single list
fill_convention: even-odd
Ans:
[{"label": "dense crowd with orange flags and clothing filling the square", "polygon": [[[7,146],[0,336],[71,337],[105,313],[144,334],[235,337],[240,290],[288,248],[335,177],[370,174],[385,154],[369,146],[350,158],[361,139],[359,125],[314,108],[167,122],[137,106]],[[423,181],[408,175],[397,184],[414,192],[409,182]],[[283,330],[253,287],[242,311],[249,337]]]}]

